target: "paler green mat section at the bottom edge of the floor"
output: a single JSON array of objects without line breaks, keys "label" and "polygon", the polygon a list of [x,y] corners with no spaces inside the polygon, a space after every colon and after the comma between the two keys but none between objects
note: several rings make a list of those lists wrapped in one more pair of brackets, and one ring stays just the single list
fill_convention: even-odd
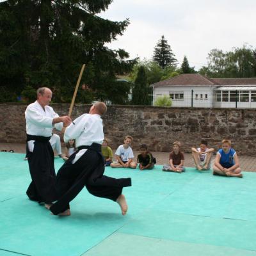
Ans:
[{"label": "paler green mat section at the bottom edge of the floor", "polygon": [[[129,253],[129,254],[128,254]],[[116,232],[83,256],[255,256],[256,252],[227,246],[193,244]]]}]

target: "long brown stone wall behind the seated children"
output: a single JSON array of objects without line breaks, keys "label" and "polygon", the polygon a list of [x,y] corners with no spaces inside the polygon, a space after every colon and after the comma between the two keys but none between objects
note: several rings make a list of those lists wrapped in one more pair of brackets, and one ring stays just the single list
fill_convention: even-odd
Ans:
[{"label": "long brown stone wall behind the seated children", "polygon": [[[24,111],[26,104],[0,104],[0,142],[23,143],[26,140]],[[59,115],[67,115],[69,104],[52,104]],[[88,113],[90,106],[77,104],[72,118]],[[104,132],[112,148],[130,134],[132,147],[146,143],[150,150],[168,152],[175,140],[184,152],[198,146],[201,138],[218,148],[223,138],[232,140],[239,154],[256,154],[255,109],[156,108],[145,106],[109,106],[103,116]],[[58,133],[58,132],[57,132]]]}]

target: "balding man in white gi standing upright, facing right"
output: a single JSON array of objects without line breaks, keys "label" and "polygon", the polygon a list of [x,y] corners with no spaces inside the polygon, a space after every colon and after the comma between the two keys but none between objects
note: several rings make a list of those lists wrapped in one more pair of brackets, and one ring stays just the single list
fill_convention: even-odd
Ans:
[{"label": "balding man in white gi standing upright, facing right", "polygon": [[27,156],[32,182],[28,187],[29,199],[44,202],[45,207],[57,198],[54,153],[49,143],[52,129],[61,130],[69,125],[69,116],[58,116],[49,107],[52,92],[42,87],[37,90],[37,99],[25,111],[27,132]]}]

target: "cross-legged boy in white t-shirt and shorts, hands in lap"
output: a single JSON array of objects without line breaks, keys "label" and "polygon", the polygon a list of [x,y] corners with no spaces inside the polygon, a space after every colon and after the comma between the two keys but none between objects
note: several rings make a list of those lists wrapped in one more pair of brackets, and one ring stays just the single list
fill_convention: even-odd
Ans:
[{"label": "cross-legged boy in white t-shirt and shorts, hands in lap", "polygon": [[134,163],[132,161],[133,156],[133,152],[132,152],[132,148],[130,147],[132,143],[132,136],[125,136],[124,139],[124,144],[120,145],[117,149],[116,149],[116,160],[117,163],[111,163],[110,166],[113,168],[132,168],[135,169],[137,164]]}]

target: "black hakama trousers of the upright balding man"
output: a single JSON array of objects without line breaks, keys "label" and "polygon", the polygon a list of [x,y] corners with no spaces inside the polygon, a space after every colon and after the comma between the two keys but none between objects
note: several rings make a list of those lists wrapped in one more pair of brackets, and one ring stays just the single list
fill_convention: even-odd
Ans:
[{"label": "black hakama trousers of the upright balding man", "polygon": [[27,195],[30,200],[50,204],[57,200],[54,152],[49,141],[35,141],[33,152],[27,145],[29,172],[32,182]]}]

